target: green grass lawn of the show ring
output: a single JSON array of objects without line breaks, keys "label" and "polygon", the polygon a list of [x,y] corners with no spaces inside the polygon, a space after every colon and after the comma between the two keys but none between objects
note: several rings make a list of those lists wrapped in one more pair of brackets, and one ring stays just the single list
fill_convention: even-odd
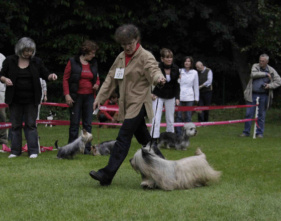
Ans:
[{"label": "green grass lawn of the show ring", "polygon": [[[229,120],[243,119],[235,115]],[[218,114],[211,118],[224,120]],[[0,153],[0,220],[280,220],[280,126],[266,123],[264,139],[237,137],[243,124],[200,127],[187,151],[162,150],[176,160],[200,147],[223,172],[220,182],[190,190],[141,189],[141,177],[129,163],[140,148],[135,138],[110,187],[88,175],[104,167],[109,156],[58,160],[52,151],[36,159],[27,153],[8,159],[9,153]],[[67,143],[67,126],[39,125],[38,133],[40,145]],[[97,127],[92,134],[98,143]],[[100,142],[117,134],[118,129],[100,129]]]}]

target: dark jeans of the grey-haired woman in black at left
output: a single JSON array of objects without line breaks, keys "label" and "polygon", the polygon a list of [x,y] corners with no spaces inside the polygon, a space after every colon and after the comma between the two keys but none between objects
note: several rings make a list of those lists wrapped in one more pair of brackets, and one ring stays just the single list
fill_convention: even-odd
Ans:
[{"label": "dark jeans of the grey-haired woman in black at left", "polygon": [[36,118],[38,104],[35,103],[11,103],[9,104],[11,114],[11,154],[20,156],[22,154],[22,129],[23,119],[25,121],[25,135],[28,147],[28,155],[38,154],[38,133]]}]

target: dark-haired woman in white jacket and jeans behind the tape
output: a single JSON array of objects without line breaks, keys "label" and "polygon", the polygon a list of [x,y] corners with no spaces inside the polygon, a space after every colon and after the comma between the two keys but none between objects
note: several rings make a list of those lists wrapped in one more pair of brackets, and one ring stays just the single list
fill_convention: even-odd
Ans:
[{"label": "dark-haired woman in white jacket and jeans behind the tape", "polygon": [[[186,56],[183,58],[184,68],[179,69],[180,78],[180,94],[179,94],[179,105],[180,106],[193,106],[194,101],[196,103],[199,100],[199,82],[198,73],[193,69],[194,62],[191,56]],[[182,117],[182,112],[176,112],[176,123],[188,123],[192,121],[192,112],[184,112],[184,119]],[[175,127],[175,133],[181,133],[181,127]]]}]

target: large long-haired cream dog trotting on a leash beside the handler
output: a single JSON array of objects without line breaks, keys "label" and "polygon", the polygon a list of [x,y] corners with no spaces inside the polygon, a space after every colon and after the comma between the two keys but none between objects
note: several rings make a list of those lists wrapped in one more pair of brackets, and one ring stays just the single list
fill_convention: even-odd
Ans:
[{"label": "large long-haired cream dog trotting on a leash beside the handler", "polygon": [[217,181],[220,171],[215,171],[207,162],[206,155],[198,148],[195,156],[180,160],[165,160],[143,146],[130,159],[133,169],[142,176],[143,188],[163,190],[191,189]]}]

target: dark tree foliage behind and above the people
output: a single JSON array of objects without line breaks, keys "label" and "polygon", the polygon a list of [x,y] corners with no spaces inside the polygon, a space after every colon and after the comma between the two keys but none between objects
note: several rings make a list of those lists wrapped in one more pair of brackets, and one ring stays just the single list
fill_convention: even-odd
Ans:
[{"label": "dark tree foliage behind and above the people", "polygon": [[157,59],[162,47],[174,52],[179,66],[191,55],[213,70],[218,84],[224,77],[242,90],[259,54],[268,53],[273,66],[281,61],[280,8],[278,0],[0,0],[0,47],[13,54],[18,39],[29,36],[50,69],[63,69],[80,44],[92,39],[101,49],[100,72],[106,73],[122,50],[113,40],[116,28],[133,23],[142,46]]}]

